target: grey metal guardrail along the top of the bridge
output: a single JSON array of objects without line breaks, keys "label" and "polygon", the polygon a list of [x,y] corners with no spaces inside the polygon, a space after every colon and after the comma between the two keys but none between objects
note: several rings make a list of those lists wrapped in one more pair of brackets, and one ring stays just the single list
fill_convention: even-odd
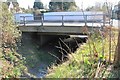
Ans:
[{"label": "grey metal guardrail along the top of the bridge", "polygon": [[[81,17],[82,20],[77,18],[76,20],[66,20],[66,17]],[[51,17],[51,20],[46,20],[45,18]],[[57,17],[59,19],[52,20],[52,18]],[[89,18],[92,18],[89,20]],[[28,18],[33,18],[29,20]],[[102,19],[98,19],[102,18]],[[85,23],[85,26],[87,26],[87,23],[102,23],[103,26],[106,24],[106,15],[105,14],[97,14],[97,15],[41,15],[41,16],[20,16],[20,24],[24,24],[23,26],[26,26],[27,23],[32,22],[38,22],[41,23],[41,26],[44,26],[43,24],[45,22],[47,23],[62,23],[62,26],[64,26],[64,23],[71,23],[71,22],[78,22],[78,23]],[[28,20],[27,20],[28,19]]]}]

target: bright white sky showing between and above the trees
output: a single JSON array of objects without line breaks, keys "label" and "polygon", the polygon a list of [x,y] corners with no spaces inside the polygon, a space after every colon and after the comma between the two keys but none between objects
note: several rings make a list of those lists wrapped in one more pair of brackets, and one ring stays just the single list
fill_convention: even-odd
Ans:
[{"label": "bright white sky showing between and above the trees", "polygon": [[[28,5],[32,8],[35,0],[17,0],[19,2],[20,7],[28,8]],[[44,5],[48,5],[50,0],[41,0]],[[96,2],[111,2],[114,5],[118,3],[120,0],[75,0],[76,4],[81,8],[83,3],[83,8],[88,6],[94,6]]]}]

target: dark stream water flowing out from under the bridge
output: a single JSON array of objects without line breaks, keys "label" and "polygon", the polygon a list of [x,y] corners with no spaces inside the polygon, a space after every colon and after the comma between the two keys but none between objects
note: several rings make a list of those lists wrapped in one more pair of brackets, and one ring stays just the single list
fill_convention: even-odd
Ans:
[{"label": "dark stream water flowing out from under the bridge", "polygon": [[48,44],[40,48],[35,36],[30,33],[22,35],[21,46],[18,47],[18,53],[26,60],[28,72],[38,78],[44,77],[47,74],[47,67],[55,63],[56,58],[49,54],[57,54],[54,46]]}]

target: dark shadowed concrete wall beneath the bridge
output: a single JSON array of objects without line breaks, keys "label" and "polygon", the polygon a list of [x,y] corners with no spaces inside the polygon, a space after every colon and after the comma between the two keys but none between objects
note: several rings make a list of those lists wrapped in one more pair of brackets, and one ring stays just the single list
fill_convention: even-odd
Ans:
[{"label": "dark shadowed concrete wall beneath the bridge", "polygon": [[45,35],[40,33],[22,33],[22,42],[24,43],[37,43],[39,47],[49,44],[50,42],[57,41],[59,38],[66,38],[65,35]]}]

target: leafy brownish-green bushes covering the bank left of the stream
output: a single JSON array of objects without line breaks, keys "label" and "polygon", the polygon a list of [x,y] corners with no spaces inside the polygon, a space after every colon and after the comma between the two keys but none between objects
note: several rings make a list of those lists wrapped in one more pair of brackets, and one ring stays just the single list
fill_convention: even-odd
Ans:
[{"label": "leafy brownish-green bushes covering the bank left of the stream", "polygon": [[8,6],[5,3],[2,3],[1,6],[0,75],[3,78],[20,77],[26,70],[22,56],[16,52],[16,43],[19,42],[21,34],[13,22]]}]

